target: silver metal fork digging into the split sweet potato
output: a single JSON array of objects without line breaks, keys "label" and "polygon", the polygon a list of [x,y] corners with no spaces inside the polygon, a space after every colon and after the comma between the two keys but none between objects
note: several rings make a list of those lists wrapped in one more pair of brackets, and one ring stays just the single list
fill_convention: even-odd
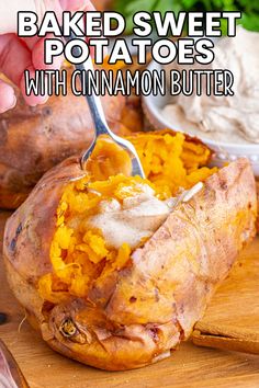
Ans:
[{"label": "silver metal fork digging into the split sweet potato", "polygon": [[[76,38],[76,35],[71,34],[67,39],[67,42],[72,41]],[[80,57],[81,52],[79,49],[78,46],[75,46],[72,49],[72,55],[75,57]],[[86,78],[88,78],[88,71],[94,71],[93,65],[92,65],[92,59],[91,56],[89,56],[89,58],[80,65],[75,65],[77,70],[86,70]],[[81,82],[83,82],[83,79],[81,77]],[[125,148],[128,153],[132,156],[132,175],[139,175],[142,178],[145,178],[145,173],[140,163],[140,160],[138,158],[137,151],[135,149],[135,147],[133,146],[133,144],[128,140],[123,139],[122,137],[113,134],[113,132],[109,128],[104,112],[103,112],[103,107],[102,107],[102,103],[101,103],[101,99],[95,95],[94,93],[91,95],[86,95],[86,100],[88,102],[90,112],[91,112],[91,116],[93,119],[93,124],[94,124],[94,138],[93,141],[91,144],[91,146],[89,147],[89,149],[83,153],[82,158],[81,158],[81,167],[85,170],[86,169],[86,164],[88,159],[91,157],[91,153],[97,145],[97,140],[99,138],[99,136],[102,135],[106,135],[110,138],[112,138],[117,145],[122,146],[123,148]]]}]

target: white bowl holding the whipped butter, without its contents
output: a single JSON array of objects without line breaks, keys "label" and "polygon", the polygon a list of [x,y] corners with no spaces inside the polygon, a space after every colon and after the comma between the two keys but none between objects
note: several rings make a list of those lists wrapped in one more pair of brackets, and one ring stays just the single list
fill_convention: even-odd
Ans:
[{"label": "white bowl holding the whipped butter, without its contents", "polygon": [[[149,70],[160,70],[160,65],[153,61],[148,69]],[[168,122],[161,114],[161,110],[168,103],[167,95],[154,95],[143,96],[143,110],[148,119],[148,122],[156,129],[173,129],[177,132],[184,132],[190,136],[193,136],[191,133],[188,133],[188,128],[181,130],[180,128],[173,127],[173,124]],[[234,161],[238,158],[248,158],[252,164],[256,176],[259,176],[259,145],[247,145],[247,144],[234,144],[234,142],[222,142],[210,140],[200,136],[200,139],[206,144],[212,150],[215,151],[215,155],[212,160],[213,166],[222,167],[225,162]]]}]

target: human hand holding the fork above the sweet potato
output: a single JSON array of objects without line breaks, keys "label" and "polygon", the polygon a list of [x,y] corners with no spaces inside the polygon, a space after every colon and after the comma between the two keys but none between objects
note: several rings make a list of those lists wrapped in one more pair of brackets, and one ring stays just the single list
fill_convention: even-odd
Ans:
[{"label": "human hand holding the fork above the sweet potato", "polygon": [[[44,4],[45,9],[54,11],[58,19],[63,11],[94,10],[90,0],[44,0]],[[24,100],[31,106],[44,104],[48,96],[25,94],[24,70],[27,69],[33,78],[36,69],[58,69],[63,62],[63,57],[58,57],[52,66],[44,64],[44,39],[37,36],[20,38],[15,34],[0,36],[0,72],[21,89]],[[12,85],[0,80],[0,113],[14,107],[15,104]]]}]

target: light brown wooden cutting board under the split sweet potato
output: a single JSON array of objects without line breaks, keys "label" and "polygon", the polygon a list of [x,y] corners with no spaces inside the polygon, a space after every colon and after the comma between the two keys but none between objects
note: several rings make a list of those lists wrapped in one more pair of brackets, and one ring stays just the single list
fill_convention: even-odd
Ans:
[{"label": "light brown wooden cutting board under the split sweet potato", "polygon": [[[8,216],[0,213],[1,242]],[[49,350],[26,322],[20,326],[24,316],[5,282],[1,254],[0,284],[0,311],[9,316],[8,323],[0,326],[0,338],[31,388],[259,387],[259,356],[198,347],[191,342],[170,358],[143,369],[109,373],[80,365]],[[259,238],[217,290],[203,322],[259,332]]]}]

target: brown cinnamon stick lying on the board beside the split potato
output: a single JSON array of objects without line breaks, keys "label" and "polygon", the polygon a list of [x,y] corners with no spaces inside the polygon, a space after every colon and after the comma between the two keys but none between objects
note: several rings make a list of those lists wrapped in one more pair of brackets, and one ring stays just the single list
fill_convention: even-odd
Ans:
[{"label": "brown cinnamon stick lying on the board beside the split potato", "polygon": [[198,346],[259,354],[259,332],[251,329],[198,322],[192,341]]}]

